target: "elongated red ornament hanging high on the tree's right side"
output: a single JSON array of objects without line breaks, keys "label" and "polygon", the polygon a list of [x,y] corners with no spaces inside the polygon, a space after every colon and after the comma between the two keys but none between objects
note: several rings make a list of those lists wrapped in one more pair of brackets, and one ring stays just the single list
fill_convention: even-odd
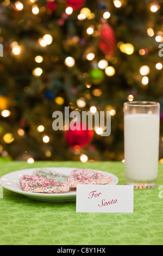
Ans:
[{"label": "elongated red ornament hanging high on the tree's right side", "polygon": [[99,48],[108,59],[114,57],[116,49],[116,36],[114,30],[107,22],[103,22],[99,30]]}]

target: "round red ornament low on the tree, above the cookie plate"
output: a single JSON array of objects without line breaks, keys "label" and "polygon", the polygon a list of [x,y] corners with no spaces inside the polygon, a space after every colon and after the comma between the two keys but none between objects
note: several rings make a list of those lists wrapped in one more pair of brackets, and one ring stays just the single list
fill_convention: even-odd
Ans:
[{"label": "round red ornament low on the tree, above the cookie plate", "polygon": [[79,146],[80,148],[86,147],[93,139],[92,130],[82,130],[82,125],[77,126],[79,130],[65,131],[65,138],[67,143],[72,146]]}]

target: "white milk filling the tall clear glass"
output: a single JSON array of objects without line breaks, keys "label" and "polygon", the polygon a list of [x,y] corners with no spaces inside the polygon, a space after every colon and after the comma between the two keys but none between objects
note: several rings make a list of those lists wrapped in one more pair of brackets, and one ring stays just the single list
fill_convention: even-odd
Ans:
[{"label": "white milk filling the tall clear glass", "polygon": [[156,114],[124,116],[126,178],[150,181],[158,176],[160,117]]}]

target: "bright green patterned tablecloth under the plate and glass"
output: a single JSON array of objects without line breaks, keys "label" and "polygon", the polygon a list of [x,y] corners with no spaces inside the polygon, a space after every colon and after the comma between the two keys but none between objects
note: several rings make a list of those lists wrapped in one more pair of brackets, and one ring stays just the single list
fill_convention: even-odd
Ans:
[{"label": "bright green patterned tablecloth under the plate and glass", "polygon": [[[118,176],[122,162],[1,162],[0,176],[35,167],[85,167]],[[163,164],[158,186],[134,190],[134,213],[76,212],[76,202],[40,202],[3,189],[0,198],[0,245],[163,245]],[[163,194],[163,193],[162,193]]]}]

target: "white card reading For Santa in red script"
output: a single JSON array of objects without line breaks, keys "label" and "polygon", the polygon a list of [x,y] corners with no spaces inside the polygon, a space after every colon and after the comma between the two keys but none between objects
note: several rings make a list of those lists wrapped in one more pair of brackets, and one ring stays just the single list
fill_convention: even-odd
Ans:
[{"label": "white card reading For Santa in red script", "polygon": [[133,209],[133,186],[77,185],[77,212],[133,212]]}]

